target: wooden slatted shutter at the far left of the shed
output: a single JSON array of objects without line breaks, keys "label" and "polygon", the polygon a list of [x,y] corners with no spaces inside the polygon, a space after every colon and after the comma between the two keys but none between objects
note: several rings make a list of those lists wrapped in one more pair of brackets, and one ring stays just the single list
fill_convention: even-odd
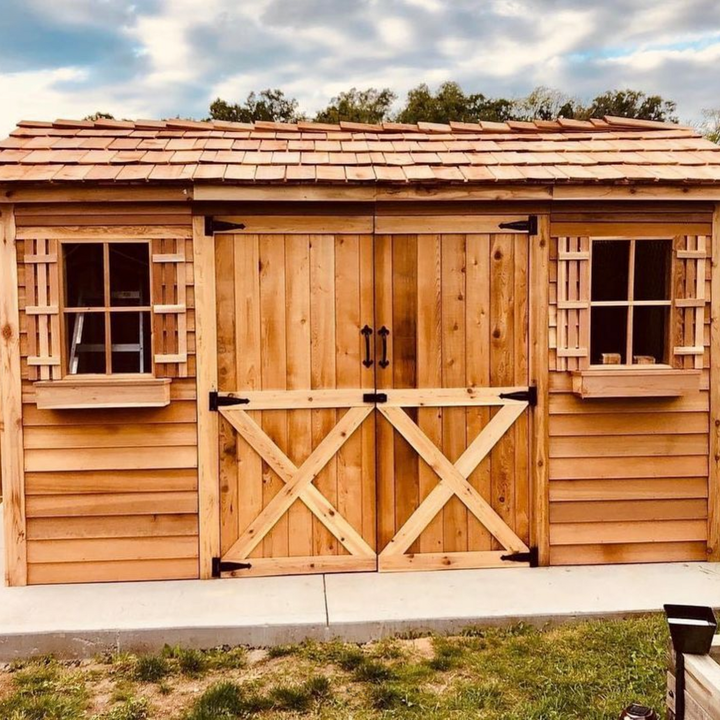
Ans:
[{"label": "wooden slatted shutter at the far left of the shed", "polygon": [[29,377],[60,379],[58,240],[24,240],[24,249]]}]

